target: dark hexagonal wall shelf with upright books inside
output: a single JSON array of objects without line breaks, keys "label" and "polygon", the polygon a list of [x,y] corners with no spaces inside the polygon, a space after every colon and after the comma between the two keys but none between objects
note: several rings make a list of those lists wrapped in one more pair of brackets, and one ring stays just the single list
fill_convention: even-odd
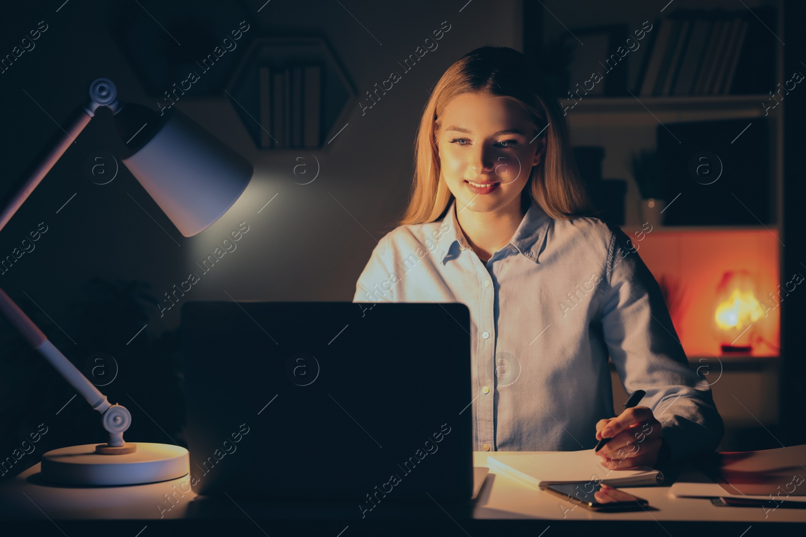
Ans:
[{"label": "dark hexagonal wall shelf with upright books inside", "polygon": [[256,147],[274,150],[325,147],[358,94],[320,36],[256,39],[227,91]]}]

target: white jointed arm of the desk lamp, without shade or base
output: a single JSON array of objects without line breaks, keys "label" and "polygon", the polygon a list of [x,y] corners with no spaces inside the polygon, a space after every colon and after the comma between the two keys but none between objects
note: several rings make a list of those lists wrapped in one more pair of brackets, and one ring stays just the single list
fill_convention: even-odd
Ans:
[{"label": "white jointed arm of the desk lamp, without shade or base", "polygon": [[[113,112],[117,112],[121,105],[117,99],[117,89],[114,84],[105,78],[99,78],[89,86],[89,102],[80,109],[77,109],[67,122],[64,129],[64,136],[54,136],[43,151],[44,157],[39,165],[34,167],[27,176],[23,186],[11,198],[10,203],[0,213],[0,229],[2,229],[11,217],[19,210],[31,192],[48,175],[48,171],[58,162],[64,151],[75,143],[75,138],[89,120],[95,115],[95,110],[99,106],[108,106]],[[110,446],[122,446],[123,432],[131,424],[131,414],[120,405],[113,405],[102,394],[92,382],[81,374],[76,366],[62,354],[56,346],[45,337],[44,333],[36,324],[10,299],[6,292],[0,289],[0,312],[17,328],[25,338],[31,348],[42,354],[42,356],[56,368],[64,379],[75,388],[93,409],[101,412],[104,428],[110,433]]]}]

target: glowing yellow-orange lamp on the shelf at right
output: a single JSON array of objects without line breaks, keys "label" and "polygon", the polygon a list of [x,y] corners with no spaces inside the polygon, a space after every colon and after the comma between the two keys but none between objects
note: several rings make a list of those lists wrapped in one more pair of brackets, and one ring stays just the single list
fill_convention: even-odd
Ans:
[{"label": "glowing yellow-orange lamp on the shelf at right", "polygon": [[750,273],[744,270],[725,272],[717,285],[717,306],[713,317],[722,351],[752,351],[755,341],[753,325],[764,316]]}]

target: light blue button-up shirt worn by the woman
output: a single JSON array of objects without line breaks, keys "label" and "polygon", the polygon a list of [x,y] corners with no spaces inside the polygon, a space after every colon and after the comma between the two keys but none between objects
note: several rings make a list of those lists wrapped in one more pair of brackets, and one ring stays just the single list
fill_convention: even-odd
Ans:
[{"label": "light blue button-up shirt worn by the woman", "polygon": [[[354,302],[460,302],[470,310],[473,445],[567,451],[596,445],[616,415],[611,357],[663,424],[671,459],[719,444],[724,426],[691,366],[637,246],[597,218],[558,220],[530,204],[512,240],[482,262],[456,219],[401,225],[372,251]],[[621,407],[618,409],[622,411]]]}]

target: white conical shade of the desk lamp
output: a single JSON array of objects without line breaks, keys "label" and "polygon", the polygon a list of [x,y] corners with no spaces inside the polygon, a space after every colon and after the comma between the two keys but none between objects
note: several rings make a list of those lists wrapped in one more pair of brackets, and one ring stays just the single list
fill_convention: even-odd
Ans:
[{"label": "white conical shade of the desk lamp", "polygon": [[222,217],[254,172],[247,159],[178,109],[156,132],[142,135],[147,141],[123,163],[185,237]]}]

